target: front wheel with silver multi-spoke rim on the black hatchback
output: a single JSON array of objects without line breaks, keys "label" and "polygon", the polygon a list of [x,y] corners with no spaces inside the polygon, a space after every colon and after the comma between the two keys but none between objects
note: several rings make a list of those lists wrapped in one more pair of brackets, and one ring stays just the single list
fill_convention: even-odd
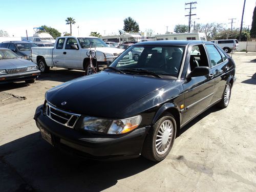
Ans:
[{"label": "front wheel with silver multi-spoke rim on the black hatchback", "polygon": [[148,131],[142,148],[142,156],[155,162],[165,159],[174,144],[176,130],[174,116],[165,113]]}]

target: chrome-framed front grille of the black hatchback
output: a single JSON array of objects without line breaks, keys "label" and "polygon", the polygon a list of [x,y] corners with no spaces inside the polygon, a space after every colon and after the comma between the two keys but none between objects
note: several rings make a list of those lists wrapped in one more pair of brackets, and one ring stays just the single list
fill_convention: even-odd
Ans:
[{"label": "chrome-framed front grille of the black hatchback", "polygon": [[46,115],[55,122],[74,128],[80,115],[57,109],[50,103],[46,103]]}]

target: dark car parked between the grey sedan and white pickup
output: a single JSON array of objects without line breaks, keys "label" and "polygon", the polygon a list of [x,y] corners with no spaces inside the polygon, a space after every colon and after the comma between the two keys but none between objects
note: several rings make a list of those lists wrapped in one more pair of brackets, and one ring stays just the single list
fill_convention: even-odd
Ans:
[{"label": "dark car parked between the grey sedan and white pickup", "polygon": [[0,47],[8,48],[19,57],[31,60],[31,48],[38,46],[33,42],[28,41],[4,41],[2,44],[0,44]]}]

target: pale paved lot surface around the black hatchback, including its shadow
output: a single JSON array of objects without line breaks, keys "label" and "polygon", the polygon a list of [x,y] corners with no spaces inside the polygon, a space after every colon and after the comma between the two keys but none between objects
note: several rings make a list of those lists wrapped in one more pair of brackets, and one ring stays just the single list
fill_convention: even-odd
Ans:
[{"label": "pale paved lot surface around the black hatchback, including its shadow", "polygon": [[36,106],[48,89],[83,72],[53,69],[31,85],[0,85],[0,191],[256,191],[256,53],[233,58],[238,80],[228,108],[189,123],[157,164],[81,160],[41,139]]}]

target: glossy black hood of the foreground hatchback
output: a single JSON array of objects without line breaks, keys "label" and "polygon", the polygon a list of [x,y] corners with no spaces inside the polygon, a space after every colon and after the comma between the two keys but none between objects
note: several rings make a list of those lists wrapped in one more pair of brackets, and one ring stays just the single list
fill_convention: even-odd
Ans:
[{"label": "glossy black hood of the foreground hatchback", "polygon": [[[123,118],[125,108],[172,79],[105,72],[61,84],[46,93],[57,108],[103,118]],[[61,105],[66,101],[65,105]]]}]

